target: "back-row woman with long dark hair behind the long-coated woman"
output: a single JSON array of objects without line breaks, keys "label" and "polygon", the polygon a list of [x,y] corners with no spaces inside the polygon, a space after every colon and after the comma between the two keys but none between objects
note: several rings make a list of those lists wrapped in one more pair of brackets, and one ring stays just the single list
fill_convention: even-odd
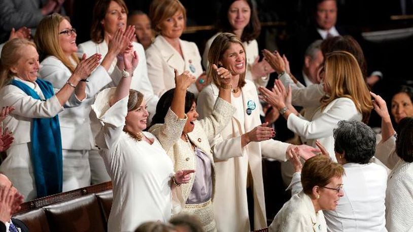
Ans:
[{"label": "back-row woman with long dark hair behind the long-coated woman", "polygon": [[253,81],[258,86],[266,86],[269,73],[274,70],[268,62],[258,62],[259,51],[256,38],[261,32],[261,23],[258,19],[257,9],[253,7],[251,0],[225,0],[222,2],[218,22],[218,33],[213,35],[205,44],[202,64],[208,68],[208,53],[214,39],[222,32],[234,33],[243,42],[247,53],[247,73],[245,79]]}]

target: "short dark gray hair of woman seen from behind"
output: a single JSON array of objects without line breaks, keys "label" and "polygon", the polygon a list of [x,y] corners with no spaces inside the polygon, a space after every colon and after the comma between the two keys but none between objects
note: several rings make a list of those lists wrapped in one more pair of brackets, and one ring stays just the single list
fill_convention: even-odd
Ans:
[{"label": "short dark gray hair of woman seen from behind", "polygon": [[367,164],[374,156],[374,131],[359,121],[340,121],[333,130],[334,151],[343,153],[347,162]]}]

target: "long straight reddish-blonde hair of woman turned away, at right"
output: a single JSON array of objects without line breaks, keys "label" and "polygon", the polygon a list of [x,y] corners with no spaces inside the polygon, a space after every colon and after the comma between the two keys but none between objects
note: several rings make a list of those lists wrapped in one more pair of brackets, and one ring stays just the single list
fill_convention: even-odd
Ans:
[{"label": "long straight reddish-blonde hair of woman turned away, at right", "polygon": [[347,97],[363,115],[362,122],[367,123],[373,104],[356,58],[345,51],[328,53],[325,57],[324,70],[324,85],[330,93],[321,98],[322,109],[336,98]]}]

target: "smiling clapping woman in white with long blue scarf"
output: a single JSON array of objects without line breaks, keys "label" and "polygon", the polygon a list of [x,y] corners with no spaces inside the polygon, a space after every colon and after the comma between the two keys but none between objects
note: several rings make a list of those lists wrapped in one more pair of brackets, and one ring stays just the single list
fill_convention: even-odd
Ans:
[{"label": "smiling clapping woman in white with long blue scarf", "polygon": [[25,201],[62,191],[57,114],[63,105],[79,105],[86,97],[86,85],[81,80],[97,67],[99,58],[83,59],[56,94],[49,82],[37,78],[38,60],[35,44],[27,40],[15,38],[2,51],[0,105],[15,108],[3,121],[15,139],[0,171],[13,181]]}]

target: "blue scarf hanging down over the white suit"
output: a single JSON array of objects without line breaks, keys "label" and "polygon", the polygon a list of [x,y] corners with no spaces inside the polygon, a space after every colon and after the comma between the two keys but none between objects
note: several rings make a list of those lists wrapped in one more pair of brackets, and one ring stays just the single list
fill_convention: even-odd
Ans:
[{"label": "blue scarf hanging down over the white suit", "polygon": [[[54,95],[50,82],[36,80],[45,99]],[[41,100],[35,90],[23,82],[13,80],[11,85],[23,90],[28,96]],[[59,118],[37,119],[31,123],[31,162],[35,174],[37,197],[45,197],[62,191],[62,142]]]}]

